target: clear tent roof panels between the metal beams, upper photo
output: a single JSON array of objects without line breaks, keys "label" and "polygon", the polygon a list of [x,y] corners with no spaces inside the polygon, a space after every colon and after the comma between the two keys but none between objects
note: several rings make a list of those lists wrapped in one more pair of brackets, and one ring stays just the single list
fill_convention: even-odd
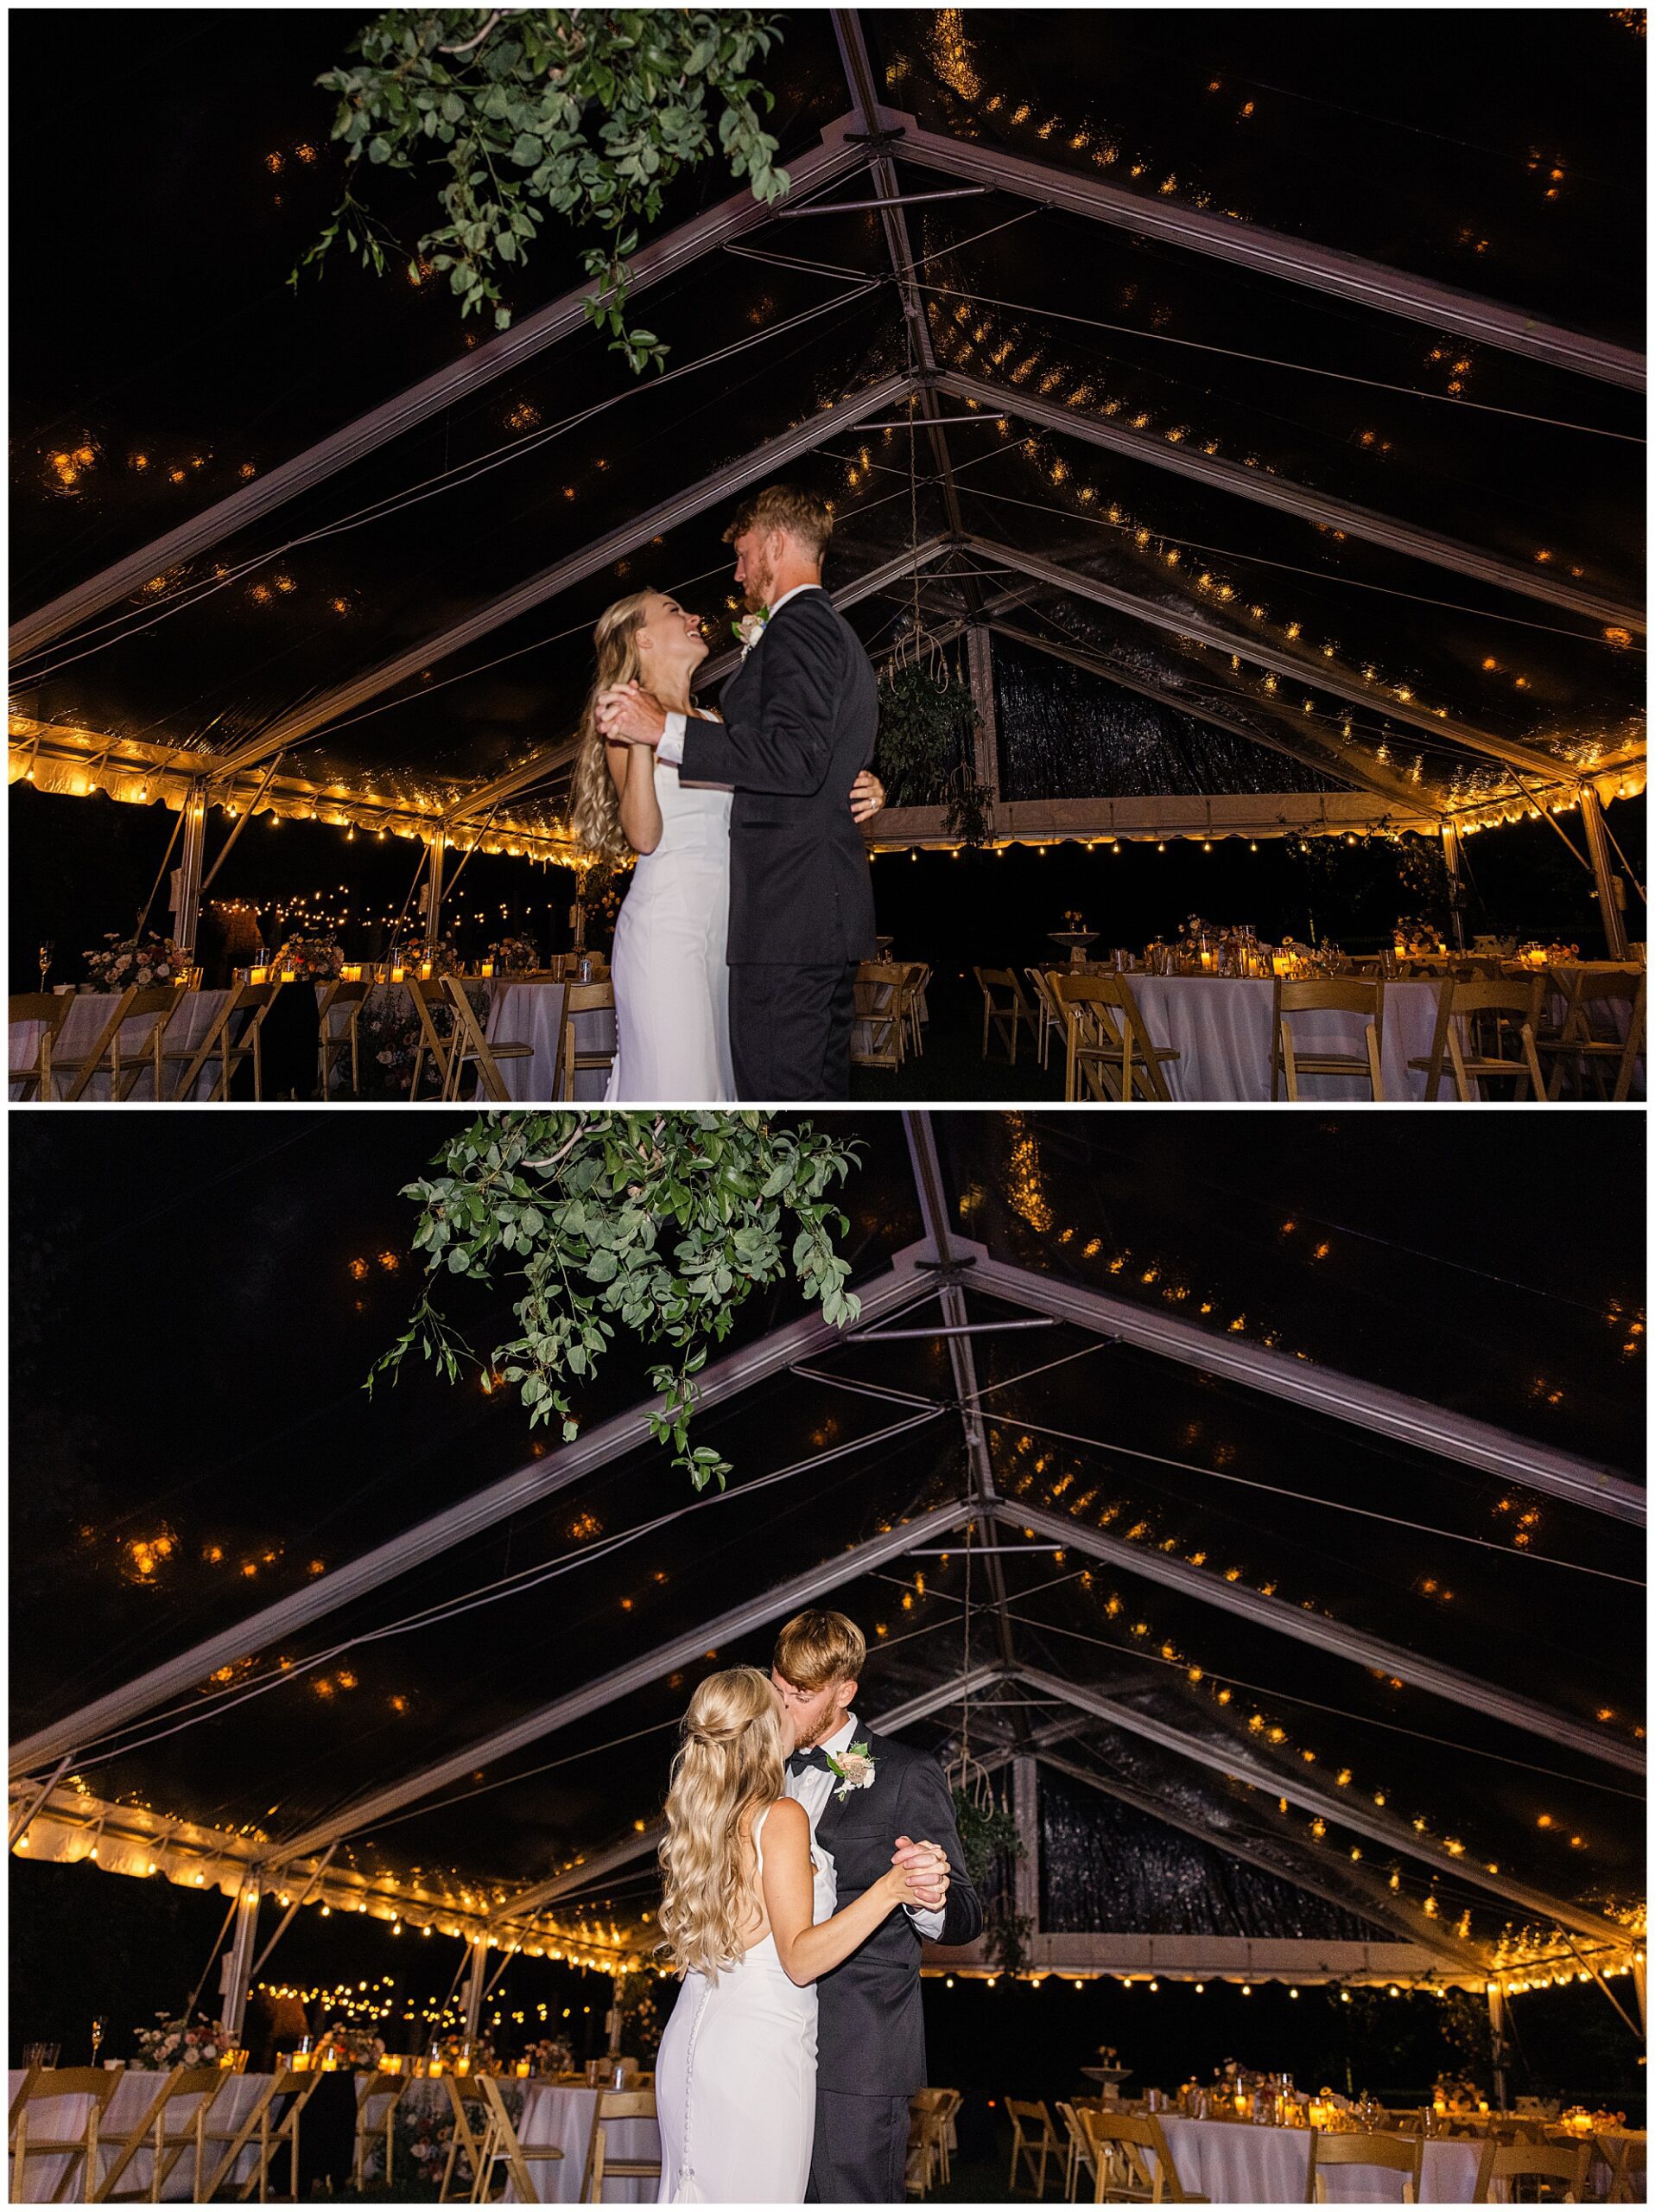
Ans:
[{"label": "clear tent roof panels between the metal beams, upper photo", "polygon": [[[84,250],[62,257],[44,232],[20,241],[33,303],[18,380],[31,447],[15,500],[20,608],[137,553],[489,343],[431,283],[381,283],[341,263],[285,288],[339,184],[327,95],[314,88],[339,60],[339,15],[237,18],[243,66],[228,95],[221,53],[190,18],[153,22],[162,31],[142,40],[119,20],[104,33],[111,82],[142,71],[153,100],[133,113],[108,104],[102,117]],[[1635,343],[1633,31],[1613,15],[1542,13],[1496,69],[1482,18],[1436,15],[1407,38],[1392,22],[1341,20],[1334,33],[1268,11],[1113,22],[974,9],[872,13],[861,35],[889,108],[947,142],[1005,150],[1035,175],[1093,179],[1146,206],[1359,254],[1471,303],[1518,301],[1589,341]],[[49,58],[49,18],[24,20],[18,38]],[[852,106],[825,13],[785,22],[772,77],[783,159],[797,161]],[[24,117],[24,155],[29,128]],[[184,131],[188,175],[157,159],[157,144]],[[903,159],[901,139],[892,150],[905,195],[949,188],[936,168]],[[206,197],[204,168],[217,179]],[[867,170],[852,173],[830,197],[867,199]],[[712,168],[684,179],[659,234],[726,188]],[[126,226],[117,234],[106,219],[115,192],[142,212],[146,234],[177,234],[188,212],[199,259],[128,254]],[[427,215],[418,184],[394,179],[387,212],[414,234]],[[1155,719],[1106,672],[1084,688],[1038,648],[1002,639],[1020,650],[1020,672],[1000,692],[1007,792],[1111,796],[1144,781],[1263,790],[1272,776],[1281,790],[1305,787],[1305,770],[1283,752],[1248,750],[1184,714],[1179,697],[1277,734],[1294,734],[1286,726],[1297,721],[1312,779],[1345,785],[1394,770],[1429,810],[1518,796],[1511,765],[1474,732],[1496,750],[1522,745],[1531,776],[1553,761],[1564,785],[1642,754],[1642,657],[1628,650],[1637,617],[1593,617],[1500,580],[1544,573],[1611,613],[1635,608],[1633,392],[1336,299],[1303,272],[1288,281],[1042,206],[1038,186],[914,206],[907,232],[940,374],[1002,394],[982,407],[982,425],[947,434],[962,529],[1133,602],[1104,611],[1047,582],[1009,619],[1049,644],[1102,648],[1104,661],[1173,699]],[[549,234],[516,279],[520,321],[580,288],[577,243]],[[644,301],[670,345],[670,383],[633,380],[577,327],[164,566],[170,582],[97,617],[115,628],[86,624],[29,650],[13,703],[46,723],[148,741],[219,752],[252,741],[828,403],[854,403],[918,365],[870,210],[781,217],[650,285]],[[100,378],[91,363],[108,356],[111,327],[124,334],[119,372]],[[732,345],[743,352],[726,358]],[[1020,416],[1020,398],[1058,407],[1073,429]],[[996,403],[1005,429],[987,420]],[[914,405],[896,398],[881,416]],[[967,409],[943,398],[940,411]],[[1097,447],[1084,427],[1131,436]],[[64,484],[51,456],[75,440],[91,442],[95,462]],[[1175,473],[1168,458],[1228,462],[1454,540],[1480,573],[1460,555],[1445,564],[1259,504],[1212,473]],[[788,471],[836,502],[832,586],[951,529],[931,445],[905,431],[841,427]],[[285,765],[451,803],[555,748],[580,708],[591,624],[617,591],[653,582],[726,617],[730,504],[708,495],[657,542],[644,533],[471,644],[434,648],[429,666],[330,708]],[[923,586],[934,619],[1018,584],[996,573],[1007,562],[993,551],[960,553],[945,568],[980,582]],[[881,655],[912,606],[914,586],[896,580],[852,619]],[[1235,657],[1228,641],[1193,641],[1179,617],[1224,633]],[[1286,655],[1286,672],[1248,646]],[[1073,703],[1102,737],[1053,748],[1042,726]],[[1454,728],[1420,728],[1398,712],[1405,703]],[[549,772],[518,816],[553,825],[560,807],[562,781]]]}]

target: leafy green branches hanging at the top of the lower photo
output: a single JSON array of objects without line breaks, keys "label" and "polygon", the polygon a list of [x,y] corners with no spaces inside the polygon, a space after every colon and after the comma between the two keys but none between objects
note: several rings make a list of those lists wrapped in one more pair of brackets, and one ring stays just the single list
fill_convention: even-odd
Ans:
[{"label": "leafy green branches hanging at the top of the lower photo", "polygon": [[[823,1321],[847,1327],[861,1303],[834,1237],[850,1228],[828,1201],[858,1164],[858,1146],[781,1128],[757,1113],[502,1113],[478,1117],[407,1183],[420,1206],[414,1250],[427,1287],[407,1329],[367,1378],[372,1391],[418,1347],[449,1383],[480,1369],[485,1389],[518,1389],[531,1427],[577,1431],[569,1385],[589,1378],[615,1329],[670,1345],[650,1369],[666,1405],[650,1433],[695,1489],[730,1473],[710,1444],[690,1444],[695,1376],[735,1327],[752,1290],[792,1276]],[[496,1272],[522,1285],[518,1336],[478,1354],[443,1318],[434,1283]]]}]

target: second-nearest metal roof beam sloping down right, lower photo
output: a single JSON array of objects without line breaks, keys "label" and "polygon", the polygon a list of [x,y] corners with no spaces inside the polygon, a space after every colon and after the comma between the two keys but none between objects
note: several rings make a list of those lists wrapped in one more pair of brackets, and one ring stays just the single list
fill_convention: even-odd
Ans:
[{"label": "second-nearest metal roof beam sloping down right, lower photo", "polygon": [[1491,1721],[1502,1721],[1507,1728],[1527,1730],[1544,1743],[1586,1752],[1589,1759],[1602,1759],[1606,1765],[1626,1767],[1633,1774],[1644,1772],[1644,1754],[1637,1745],[1615,1743],[1613,1736],[1606,1736],[1589,1721],[1575,1721],[1571,1714],[1558,1712],[1553,1705],[1542,1705],[1538,1699],[1500,1690],[1491,1681],[1478,1681],[1476,1674],[1463,1674],[1460,1668],[1427,1659],[1401,1644],[1389,1644],[1385,1637],[1372,1637],[1363,1628],[1330,1621],[1323,1613],[1290,1606],[1286,1597],[1266,1597],[1261,1590],[1248,1590],[1241,1582],[1226,1582],[1224,1575],[1204,1566],[1190,1566],[1188,1559],[1179,1559],[1173,1553],[1155,1551],[1146,1544],[1128,1544],[1124,1537],[1106,1535],[1102,1528],[1089,1528],[1069,1513],[1031,1506],[1027,1498],[1002,1506],[1000,1520],[1007,1526],[1033,1528],[1038,1535],[1051,1537],[1053,1544],[1089,1553],[1093,1559],[1104,1559],[1108,1566],[1120,1568],[1122,1575],[1159,1582],[1184,1597],[1197,1597],[1201,1604],[1217,1606],[1219,1613],[1235,1613],[1257,1628],[1274,1628],[1277,1635],[1312,1644],[1316,1650],[1347,1659],[1352,1666],[1381,1670],[1403,1681],[1409,1690],[1429,1690],[1434,1697],[1443,1697],[1451,1705],[1463,1705],[1467,1712],[1480,1712]]}]

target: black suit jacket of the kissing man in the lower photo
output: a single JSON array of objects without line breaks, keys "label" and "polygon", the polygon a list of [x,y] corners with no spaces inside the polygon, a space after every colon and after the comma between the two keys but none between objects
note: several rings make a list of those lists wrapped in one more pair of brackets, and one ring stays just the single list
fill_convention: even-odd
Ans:
[{"label": "black suit jacket of the kissing man in the lower photo", "polygon": [[[785,613],[785,608],[783,608]],[[874,1781],[843,1803],[839,1783],[816,1823],[816,1838],[839,1869],[839,1905],[850,1905],[889,1871],[898,1836],[936,1843],[949,1854],[949,1898],[940,1942],[982,1933],[982,1905],[971,1887],[954,1827],[954,1798],[943,1770],[894,1736],[858,1730],[874,1759]],[[816,1982],[816,2081],[850,2097],[909,2097],[925,2088],[925,2013],[920,2008],[920,1933],[898,1907],[867,1942]]]}]

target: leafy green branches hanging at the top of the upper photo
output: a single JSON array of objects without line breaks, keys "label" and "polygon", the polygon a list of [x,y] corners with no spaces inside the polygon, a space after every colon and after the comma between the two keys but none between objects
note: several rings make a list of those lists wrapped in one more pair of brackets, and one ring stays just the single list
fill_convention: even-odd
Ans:
[{"label": "leafy green branches hanging at the top of the upper photo", "polygon": [[[414,283],[447,276],[462,316],[489,303],[504,330],[502,268],[529,259],[547,215],[595,226],[604,243],[582,265],[600,290],[586,314],[642,372],[666,347],[626,325],[626,263],[666,186],[717,139],[754,199],[770,206],[788,190],[759,122],[774,97],[750,73],[779,35],[774,18],[748,9],[389,9],[352,44],[358,60],[316,82],[339,93],[332,137],[352,170],[363,159],[447,170],[447,221],[407,261]],[[341,234],[381,276],[387,252],[407,259],[347,186],[301,268]]]}]

